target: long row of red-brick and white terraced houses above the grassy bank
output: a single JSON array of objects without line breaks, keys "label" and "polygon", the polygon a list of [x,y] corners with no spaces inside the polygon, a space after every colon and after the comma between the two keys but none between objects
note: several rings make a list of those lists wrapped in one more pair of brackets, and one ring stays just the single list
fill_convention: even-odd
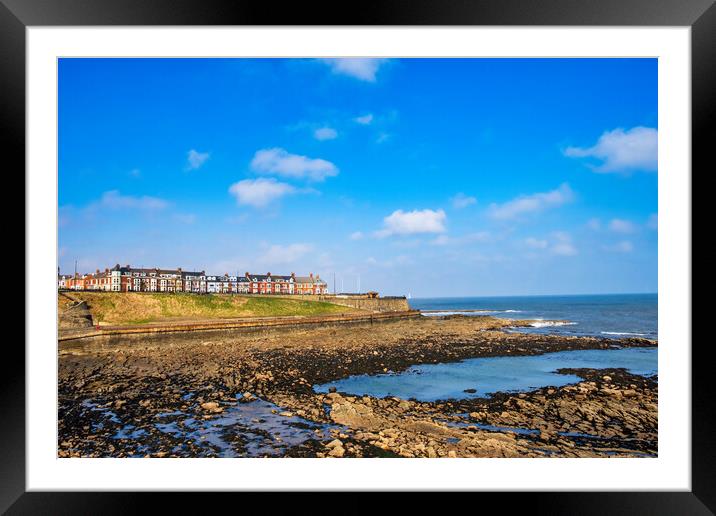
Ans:
[{"label": "long row of red-brick and white terraced houses above the grassy bank", "polygon": [[243,276],[207,275],[205,271],[143,269],[119,264],[94,274],[60,275],[57,287],[69,290],[109,292],[194,292],[197,294],[327,294],[328,284],[319,275],[288,276],[245,273]]}]

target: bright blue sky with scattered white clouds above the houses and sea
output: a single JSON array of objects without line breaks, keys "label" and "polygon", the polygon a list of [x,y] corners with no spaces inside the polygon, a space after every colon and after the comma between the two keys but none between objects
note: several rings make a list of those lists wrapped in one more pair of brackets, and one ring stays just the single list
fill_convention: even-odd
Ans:
[{"label": "bright blue sky with scattered white clouds above the houses and sea", "polygon": [[59,266],[657,291],[655,59],[61,59]]}]

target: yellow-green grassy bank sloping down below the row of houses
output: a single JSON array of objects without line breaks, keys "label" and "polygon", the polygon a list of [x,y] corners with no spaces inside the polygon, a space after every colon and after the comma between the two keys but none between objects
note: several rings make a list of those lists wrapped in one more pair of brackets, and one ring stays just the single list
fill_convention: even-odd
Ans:
[{"label": "yellow-green grassy bank sloping down below the row of houses", "polygon": [[[87,302],[95,323],[107,324],[317,316],[359,311],[322,301],[225,294],[72,292],[69,296]],[[66,309],[71,302],[68,297],[58,295],[60,311]]]}]

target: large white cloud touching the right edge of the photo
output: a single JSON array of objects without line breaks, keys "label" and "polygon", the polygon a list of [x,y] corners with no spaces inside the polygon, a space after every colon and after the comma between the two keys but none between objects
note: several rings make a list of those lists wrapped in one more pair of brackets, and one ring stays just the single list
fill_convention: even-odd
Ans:
[{"label": "large white cloud touching the right edge of the photo", "polygon": [[595,158],[601,164],[592,166],[595,172],[655,171],[658,158],[658,131],[651,127],[614,129],[599,137],[592,147],[568,147],[570,158]]}]

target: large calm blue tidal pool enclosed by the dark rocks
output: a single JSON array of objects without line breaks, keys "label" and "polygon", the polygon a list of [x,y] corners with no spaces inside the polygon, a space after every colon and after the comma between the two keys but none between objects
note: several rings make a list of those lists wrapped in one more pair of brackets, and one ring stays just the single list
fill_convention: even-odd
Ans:
[{"label": "large calm blue tidal pool enclosed by the dark rocks", "polygon": [[[421,401],[485,397],[495,392],[560,387],[580,378],[558,374],[561,368],[626,368],[633,374],[657,373],[657,348],[590,349],[532,356],[471,358],[461,362],[413,366],[397,374],[357,375],[318,385],[316,392],[339,392],[379,398],[397,396]],[[466,393],[465,389],[474,389]]]}]

